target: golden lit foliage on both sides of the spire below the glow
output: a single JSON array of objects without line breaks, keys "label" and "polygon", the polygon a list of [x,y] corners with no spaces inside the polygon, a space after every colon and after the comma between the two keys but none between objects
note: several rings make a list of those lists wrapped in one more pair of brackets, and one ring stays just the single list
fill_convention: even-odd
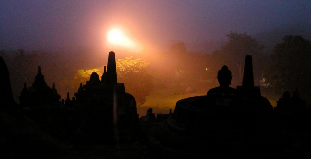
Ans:
[{"label": "golden lit foliage on both sides of the spire below the glow", "polygon": [[[126,92],[135,97],[137,106],[145,103],[146,96],[150,94],[153,88],[153,77],[148,72],[148,65],[149,62],[141,58],[127,57],[116,61],[118,82],[124,83]],[[90,80],[92,72],[96,72],[101,79],[103,69],[104,66],[90,70],[80,69],[73,80],[63,82],[63,87],[67,87],[68,90],[73,89],[76,92],[80,83],[85,84],[86,81]]]}]

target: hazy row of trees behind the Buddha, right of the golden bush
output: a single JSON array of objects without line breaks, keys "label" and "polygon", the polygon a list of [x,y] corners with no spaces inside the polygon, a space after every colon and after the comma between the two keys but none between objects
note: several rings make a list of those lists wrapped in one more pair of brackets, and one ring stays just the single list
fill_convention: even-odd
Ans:
[{"label": "hazy row of trees behind the Buddha, right of the golden bush", "polygon": [[[169,51],[173,55],[170,58],[176,60],[173,68],[187,70],[181,72],[186,77],[197,74],[207,79],[216,77],[218,70],[227,65],[232,71],[232,85],[235,87],[242,84],[245,55],[252,55],[257,85],[264,79],[269,84],[267,91],[273,91],[279,97],[284,91],[294,92],[297,87],[302,98],[311,101],[309,40],[300,35],[287,35],[267,54],[261,42],[246,33],[231,32],[226,36],[227,42],[211,53],[189,53],[182,42],[172,45]],[[202,73],[204,68],[208,69],[207,73]]]}]

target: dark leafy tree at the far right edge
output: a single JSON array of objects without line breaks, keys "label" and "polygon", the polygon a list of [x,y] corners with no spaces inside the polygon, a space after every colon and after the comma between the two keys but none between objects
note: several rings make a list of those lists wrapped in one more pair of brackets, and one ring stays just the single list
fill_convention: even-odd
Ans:
[{"label": "dark leafy tree at the far right edge", "polygon": [[288,35],[276,44],[266,77],[276,92],[295,91],[305,100],[311,96],[311,44],[301,36]]}]

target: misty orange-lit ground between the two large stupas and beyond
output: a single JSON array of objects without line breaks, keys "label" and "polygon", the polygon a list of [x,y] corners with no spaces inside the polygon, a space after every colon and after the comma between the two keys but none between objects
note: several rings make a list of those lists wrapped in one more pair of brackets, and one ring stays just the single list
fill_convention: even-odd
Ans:
[{"label": "misty orange-lit ground between the two large stupas and beyond", "polygon": [[[155,87],[151,94],[147,96],[146,102],[137,107],[137,113],[139,116],[146,115],[146,111],[149,108],[153,109],[153,113],[168,114],[169,110],[172,111],[175,108],[176,102],[193,96],[205,96],[207,91],[213,87],[218,87],[217,79],[208,78],[197,79],[194,77],[188,77],[188,79],[182,79],[182,81],[171,81],[161,86]],[[236,88],[236,86],[231,86]],[[276,107],[276,101],[281,96],[276,95],[272,90],[261,87],[261,95],[266,97],[273,107]]]}]

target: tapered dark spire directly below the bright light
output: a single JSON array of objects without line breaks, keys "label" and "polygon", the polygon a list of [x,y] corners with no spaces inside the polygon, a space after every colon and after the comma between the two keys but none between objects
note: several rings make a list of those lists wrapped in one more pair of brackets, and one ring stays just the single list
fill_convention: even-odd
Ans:
[{"label": "tapered dark spire directly below the bright light", "polygon": [[117,84],[117,67],[114,52],[109,52],[107,64],[106,84]]}]

